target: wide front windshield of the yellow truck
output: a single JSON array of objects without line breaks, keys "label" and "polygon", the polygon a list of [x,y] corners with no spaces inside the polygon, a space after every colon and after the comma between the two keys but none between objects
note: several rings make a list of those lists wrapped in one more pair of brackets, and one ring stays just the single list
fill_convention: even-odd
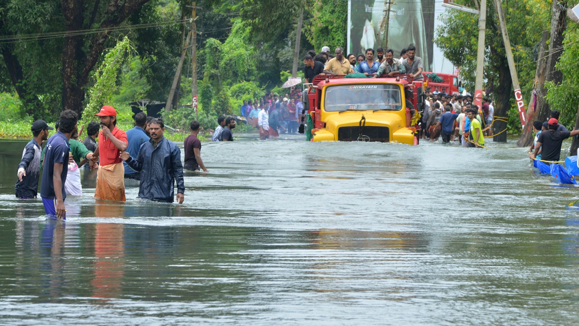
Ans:
[{"label": "wide front windshield of the yellow truck", "polygon": [[392,84],[336,85],[325,89],[324,109],[336,111],[398,111],[400,86]]}]

